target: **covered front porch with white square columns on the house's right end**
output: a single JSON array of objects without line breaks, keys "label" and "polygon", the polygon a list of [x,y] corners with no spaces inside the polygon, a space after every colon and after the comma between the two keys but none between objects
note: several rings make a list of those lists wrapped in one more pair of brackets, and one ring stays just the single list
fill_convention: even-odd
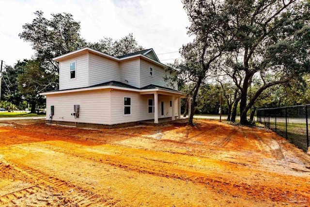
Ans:
[{"label": "covered front porch with white square columns on the house's right end", "polygon": [[[146,123],[152,122],[160,124],[164,122],[173,122],[175,120],[183,120],[181,114],[181,98],[186,95],[180,91],[167,89],[148,89],[140,92],[140,95],[153,95],[154,99],[149,99],[149,112],[153,110],[154,120],[147,120]],[[190,97],[188,96],[188,104],[190,106]],[[190,107],[188,107],[190,114]]]}]

